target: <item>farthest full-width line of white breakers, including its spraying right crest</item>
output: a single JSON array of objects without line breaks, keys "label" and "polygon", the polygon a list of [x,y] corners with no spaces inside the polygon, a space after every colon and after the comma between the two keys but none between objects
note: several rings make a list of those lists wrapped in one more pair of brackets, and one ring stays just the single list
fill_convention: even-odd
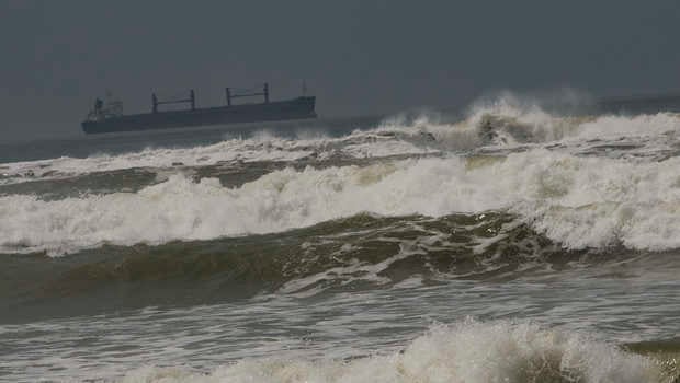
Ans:
[{"label": "farthest full-width line of white breakers, including its spraying right crest", "polygon": [[[298,139],[260,131],[248,139],[225,141],[193,148],[149,148],[123,154],[99,154],[86,159],[59,158],[2,164],[0,183],[21,183],[47,177],[63,177],[91,172],[132,167],[173,167],[211,165],[229,161],[295,161],[314,155],[335,154],[377,158],[395,154],[421,154],[433,151],[468,151],[479,147],[540,146],[554,141],[580,147],[589,140],[647,138],[645,150],[667,147],[669,137],[678,141],[680,117],[659,113],[638,116],[565,117],[546,113],[532,103],[506,94],[492,102],[475,104],[466,118],[455,124],[440,115],[422,114],[416,118],[397,115],[373,129],[356,130],[340,138],[305,135]],[[639,142],[638,142],[639,143]],[[645,142],[643,142],[645,144]],[[29,176],[27,176],[29,175]]]}]

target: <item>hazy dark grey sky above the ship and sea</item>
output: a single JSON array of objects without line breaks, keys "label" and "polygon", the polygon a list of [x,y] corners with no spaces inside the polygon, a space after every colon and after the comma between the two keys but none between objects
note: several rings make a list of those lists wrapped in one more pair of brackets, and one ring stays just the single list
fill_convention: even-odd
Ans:
[{"label": "hazy dark grey sky above the ship and sea", "polygon": [[[320,115],[453,107],[492,90],[680,91],[680,1],[0,0],[0,140],[73,136],[106,89],[301,82]],[[175,92],[177,91],[177,92]]]}]

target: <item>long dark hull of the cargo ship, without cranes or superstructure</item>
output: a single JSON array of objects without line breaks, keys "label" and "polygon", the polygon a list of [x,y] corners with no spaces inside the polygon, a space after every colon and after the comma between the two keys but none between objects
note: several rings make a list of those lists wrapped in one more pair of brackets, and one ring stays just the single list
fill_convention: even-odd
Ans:
[{"label": "long dark hull of the cargo ship, without cranes or superstructure", "polygon": [[315,97],[298,97],[265,104],[246,104],[194,111],[170,111],[110,117],[82,123],[86,134],[138,131],[205,125],[276,121],[315,118]]}]

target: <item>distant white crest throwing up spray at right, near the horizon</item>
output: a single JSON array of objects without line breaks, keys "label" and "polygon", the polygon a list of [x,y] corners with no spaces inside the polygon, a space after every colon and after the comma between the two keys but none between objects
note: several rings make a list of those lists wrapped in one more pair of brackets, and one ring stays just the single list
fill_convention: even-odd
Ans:
[{"label": "distant white crest throwing up spray at right, near the horizon", "polygon": [[442,123],[439,115],[423,114],[410,120],[403,116],[389,119],[382,128],[431,135],[437,139],[435,147],[469,150],[484,146],[678,135],[680,117],[671,113],[636,116],[554,114],[535,101],[506,93],[473,104],[466,117],[455,124]]}]

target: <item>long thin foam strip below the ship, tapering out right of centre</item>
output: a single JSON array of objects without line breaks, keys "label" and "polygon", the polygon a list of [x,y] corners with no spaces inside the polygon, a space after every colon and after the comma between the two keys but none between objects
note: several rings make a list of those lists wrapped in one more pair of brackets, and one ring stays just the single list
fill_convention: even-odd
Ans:
[{"label": "long thin foam strip below the ship, tapering out right of centre", "polygon": [[[417,143],[417,142],[416,142]],[[63,156],[52,160],[2,164],[0,184],[68,177],[93,172],[135,167],[169,169],[175,165],[205,166],[230,161],[295,161],[309,155],[325,159],[341,154],[353,158],[379,158],[419,154],[430,150],[413,142],[375,132],[355,131],[341,138],[317,137],[286,139],[259,132],[249,139],[225,141],[193,148],[148,148],[123,154],[98,154],[84,159]]]}]

